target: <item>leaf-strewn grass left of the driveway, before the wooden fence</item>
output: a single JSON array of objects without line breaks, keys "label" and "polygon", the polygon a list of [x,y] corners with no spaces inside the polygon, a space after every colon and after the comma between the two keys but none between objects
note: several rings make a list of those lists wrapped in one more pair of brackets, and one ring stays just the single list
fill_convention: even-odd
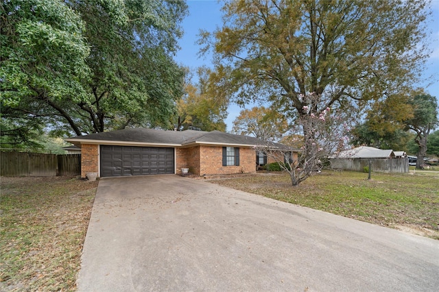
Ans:
[{"label": "leaf-strewn grass left of the driveway, before the wooden fence", "polygon": [[0,290],[73,291],[97,182],[1,178]]}]

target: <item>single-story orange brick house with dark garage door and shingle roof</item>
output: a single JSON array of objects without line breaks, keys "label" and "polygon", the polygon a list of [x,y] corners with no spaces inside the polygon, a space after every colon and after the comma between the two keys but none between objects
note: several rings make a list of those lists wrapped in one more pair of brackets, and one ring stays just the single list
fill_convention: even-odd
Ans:
[{"label": "single-story orange brick house with dark garage door and shingle roof", "polygon": [[[213,131],[116,130],[65,139],[81,148],[81,176],[254,173],[258,138]],[[270,147],[287,151],[281,144]],[[259,161],[259,160],[258,160]]]}]

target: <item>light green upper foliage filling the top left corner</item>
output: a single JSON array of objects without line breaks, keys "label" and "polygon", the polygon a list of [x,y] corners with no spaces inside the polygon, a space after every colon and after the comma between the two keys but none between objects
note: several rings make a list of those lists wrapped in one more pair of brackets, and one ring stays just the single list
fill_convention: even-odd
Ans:
[{"label": "light green upper foliage filling the top left corner", "polygon": [[17,106],[25,97],[80,100],[88,76],[80,16],[54,0],[2,1],[0,9],[3,105]]}]

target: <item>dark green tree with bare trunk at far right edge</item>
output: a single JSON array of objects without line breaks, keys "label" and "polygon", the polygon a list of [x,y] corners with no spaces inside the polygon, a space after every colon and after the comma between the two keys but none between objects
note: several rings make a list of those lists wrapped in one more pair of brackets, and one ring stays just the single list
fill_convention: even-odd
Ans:
[{"label": "dark green tree with bare trunk at far right edge", "polygon": [[438,101],[436,97],[427,94],[419,94],[409,100],[412,106],[413,117],[407,119],[405,125],[407,130],[416,133],[414,138],[418,145],[418,159],[416,160],[416,168],[422,168],[424,157],[427,153],[427,140],[430,132],[439,125],[438,119]]}]

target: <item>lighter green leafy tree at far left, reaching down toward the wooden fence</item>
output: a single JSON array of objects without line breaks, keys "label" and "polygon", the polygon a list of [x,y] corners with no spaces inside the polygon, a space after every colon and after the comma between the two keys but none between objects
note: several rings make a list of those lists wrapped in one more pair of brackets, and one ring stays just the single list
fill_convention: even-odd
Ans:
[{"label": "lighter green leafy tree at far left, reaching down toward the wooden fence", "polygon": [[86,97],[84,22],[61,1],[1,1],[1,145],[34,147],[43,133],[41,104]]}]

